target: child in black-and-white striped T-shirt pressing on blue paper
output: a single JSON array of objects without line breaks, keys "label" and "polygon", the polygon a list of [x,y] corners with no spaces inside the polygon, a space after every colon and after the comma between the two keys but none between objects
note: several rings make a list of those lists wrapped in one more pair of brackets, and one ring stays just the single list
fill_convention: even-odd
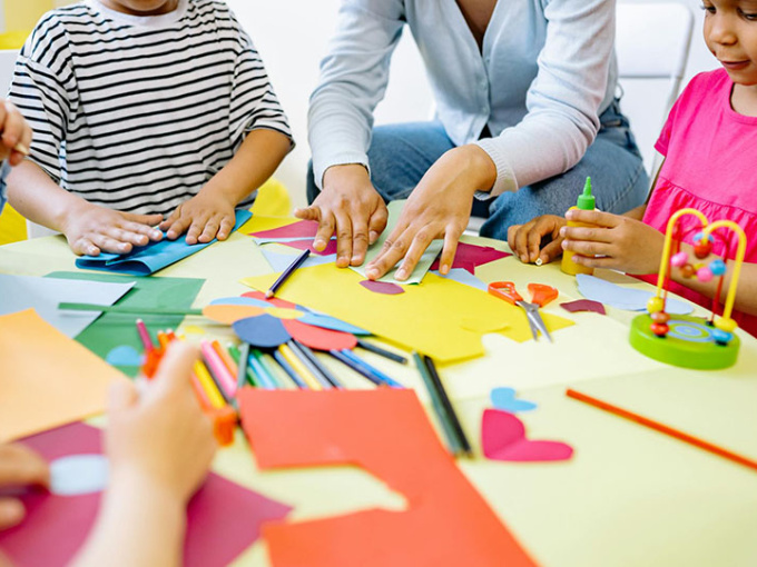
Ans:
[{"label": "child in black-and-white striped T-shirt pressing on blue paper", "polygon": [[48,12],[10,99],[35,139],[9,176],[9,201],[76,253],[128,252],[161,231],[224,240],[235,207],[293,145],[260,58],[218,0],[85,0]]}]

